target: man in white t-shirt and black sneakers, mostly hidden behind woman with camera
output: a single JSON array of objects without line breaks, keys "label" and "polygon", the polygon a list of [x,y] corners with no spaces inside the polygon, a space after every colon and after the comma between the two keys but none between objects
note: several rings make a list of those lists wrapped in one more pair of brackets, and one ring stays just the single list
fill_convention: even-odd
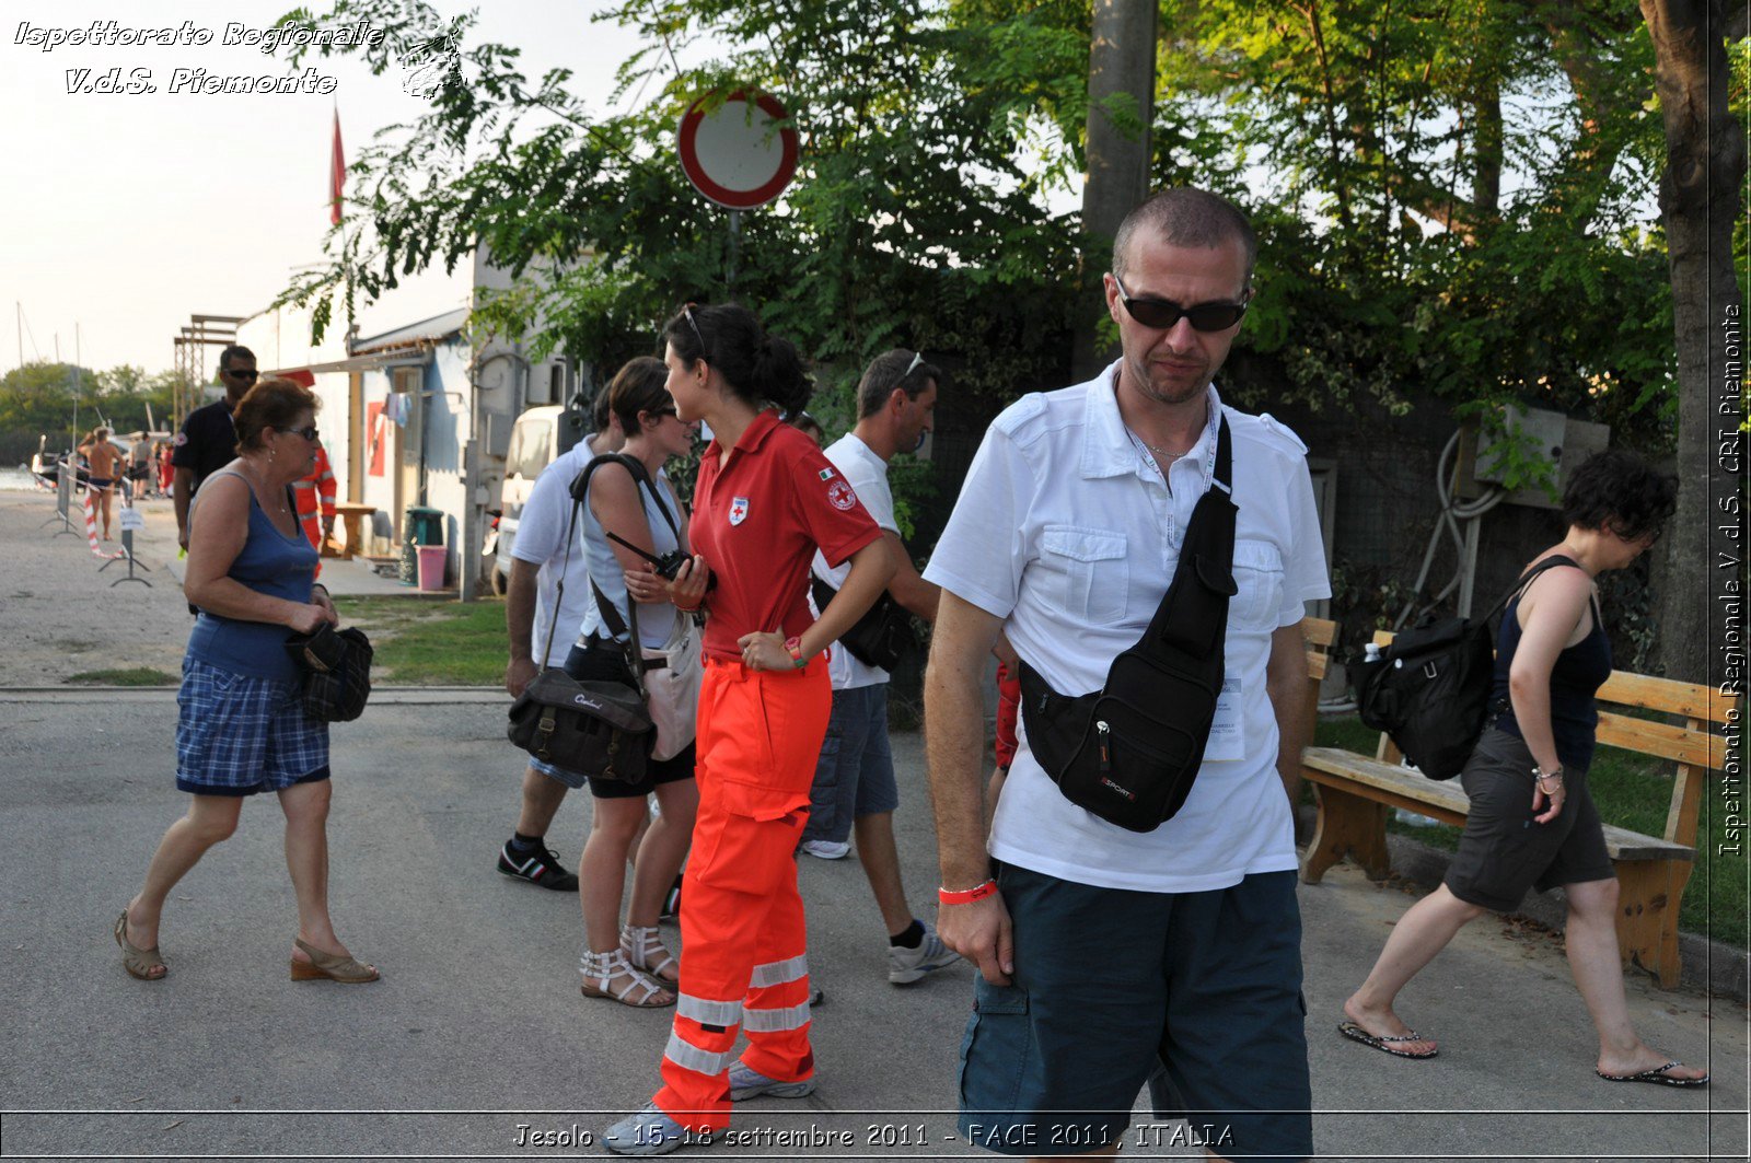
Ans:
[{"label": "man in white t-shirt and black sneakers, mostly hidden behind woman with camera", "polygon": [[[590,611],[590,569],[583,552],[583,529],[571,529],[571,482],[592,457],[618,452],[625,433],[608,410],[608,389],[595,394],[592,410],[595,433],[541,469],[517,524],[511,545],[511,582],[504,596],[504,624],[511,643],[511,662],[504,671],[504,688],[511,697],[541,669],[536,657],[545,648],[548,666],[566,666],[578,627]],[[566,553],[571,532],[571,555]],[[559,582],[564,578],[564,597]],[[559,603],[559,618],[553,606]],[[548,641],[552,638],[552,641]],[[567,772],[531,757],[524,772],[524,804],[517,830],[499,849],[499,872],[552,888],[576,892],[578,878],[567,872],[546,846],[546,830],[567,788],[581,788],[581,774]]]}]

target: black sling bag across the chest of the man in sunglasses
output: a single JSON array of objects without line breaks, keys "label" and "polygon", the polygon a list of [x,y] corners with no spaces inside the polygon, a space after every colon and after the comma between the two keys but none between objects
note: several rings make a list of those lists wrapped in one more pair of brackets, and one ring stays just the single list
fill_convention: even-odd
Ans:
[{"label": "black sling bag across the chest of the man in sunglasses", "polygon": [[1173,583],[1105,687],[1061,695],[1021,660],[1028,750],[1072,804],[1131,832],[1154,832],[1185,804],[1215,722],[1238,590],[1231,469],[1222,417],[1212,487],[1192,510]]}]

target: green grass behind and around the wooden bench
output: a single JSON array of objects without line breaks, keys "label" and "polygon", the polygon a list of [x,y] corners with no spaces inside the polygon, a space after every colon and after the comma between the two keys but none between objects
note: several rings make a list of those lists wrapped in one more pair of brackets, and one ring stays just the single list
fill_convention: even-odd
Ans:
[{"label": "green grass behind and around the wooden bench", "polygon": [[[1336,746],[1362,755],[1375,753],[1378,732],[1362,725],[1355,715],[1320,720],[1313,732],[1317,746]],[[1606,823],[1620,828],[1660,835],[1665,832],[1665,814],[1672,804],[1674,764],[1635,751],[1600,746],[1593,753],[1593,767],[1586,772],[1586,788]],[[1677,927],[1704,934],[1744,949],[1747,946],[1747,892],[1746,853],[1730,841],[1725,813],[1718,811],[1714,786],[1702,788],[1702,813],[1697,823],[1697,867],[1684,886]],[[1387,816],[1387,830],[1410,835],[1432,848],[1453,851],[1460,830],[1448,825],[1411,827],[1396,816]],[[1735,849],[1725,849],[1732,842]]]}]

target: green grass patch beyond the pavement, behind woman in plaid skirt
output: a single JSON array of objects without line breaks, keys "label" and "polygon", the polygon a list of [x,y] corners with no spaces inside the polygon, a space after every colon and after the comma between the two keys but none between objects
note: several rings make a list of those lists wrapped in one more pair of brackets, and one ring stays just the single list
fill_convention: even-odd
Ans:
[{"label": "green grass patch beyond the pavement, behind woman in plaid skirt", "polygon": [[376,650],[376,681],[406,687],[501,687],[510,650],[504,603],[429,597],[336,597],[341,625]]}]

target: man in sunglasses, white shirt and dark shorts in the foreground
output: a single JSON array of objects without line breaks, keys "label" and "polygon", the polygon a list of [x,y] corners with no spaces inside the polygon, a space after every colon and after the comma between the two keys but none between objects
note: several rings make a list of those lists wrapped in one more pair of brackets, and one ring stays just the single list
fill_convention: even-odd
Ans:
[{"label": "man in sunglasses, white shirt and dark shorts in the foreground", "polygon": [[[942,587],[925,683],[939,925],[981,970],[961,1130],[995,1151],[1112,1154],[1150,1081],[1215,1156],[1311,1152],[1290,804],[1311,729],[1303,603],[1331,589],[1304,445],[1212,384],[1255,252],[1213,194],[1133,210],[1105,277],[1121,359],[993,422],[925,569]],[[1152,832],[1072,804],[1024,709],[988,848],[984,657],[1003,632],[1052,690],[1100,690],[1175,574],[1224,419],[1238,592],[1189,797]]]}]

